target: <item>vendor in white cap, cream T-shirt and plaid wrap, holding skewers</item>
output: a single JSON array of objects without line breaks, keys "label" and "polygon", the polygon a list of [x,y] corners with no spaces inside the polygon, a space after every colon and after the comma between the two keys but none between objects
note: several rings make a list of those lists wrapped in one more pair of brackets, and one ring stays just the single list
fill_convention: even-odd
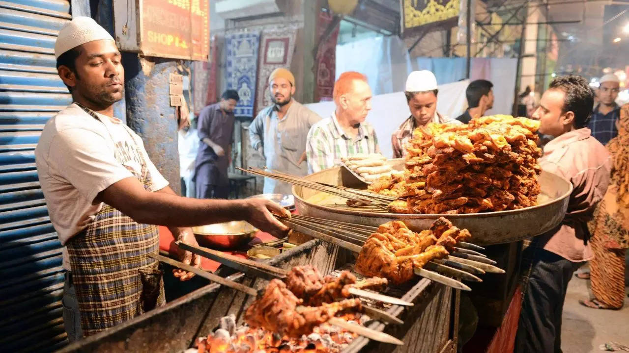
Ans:
[{"label": "vendor in white cap, cream T-shirt and plaid wrap, holding skewers", "polygon": [[[64,325],[69,340],[126,322],[164,304],[157,224],[196,245],[192,225],[247,220],[282,236],[263,199],[198,200],[175,195],[142,139],[114,117],[125,76],[116,43],[88,17],[75,17],[55,42],[58,75],[72,104],[45,125],[35,149],[50,220],[64,248]],[[182,253],[199,266],[200,258]],[[177,271],[181,280],[192,274]],[[77,310],[78,308],[78,310]]]}]

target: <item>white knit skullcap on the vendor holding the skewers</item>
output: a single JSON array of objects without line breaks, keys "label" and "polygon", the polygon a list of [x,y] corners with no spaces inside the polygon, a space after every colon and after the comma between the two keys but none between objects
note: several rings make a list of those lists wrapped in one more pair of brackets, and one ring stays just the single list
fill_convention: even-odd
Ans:
[{"label": "white knit skullcap on the vendor holding the skewers", "polygon": [[90,17],[79,16],[68,21],[55,41],[55,58],[68,50],[95,40],[114,40],[108,31]]}]

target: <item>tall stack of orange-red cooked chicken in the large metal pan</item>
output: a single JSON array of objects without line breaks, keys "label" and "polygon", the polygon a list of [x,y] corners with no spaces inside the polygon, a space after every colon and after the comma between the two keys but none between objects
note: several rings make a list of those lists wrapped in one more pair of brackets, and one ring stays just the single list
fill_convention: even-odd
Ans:
[{"label": "tall stack of orange-red cooked chicken in the large metal pan", "polygon": [[541,173],[535,131],[525,117],[486,116],[467,125],[417,128],[406,146],[403,176],[383,177],[369,190],[402,197],[394,213],[470,214],[537,204]]}]

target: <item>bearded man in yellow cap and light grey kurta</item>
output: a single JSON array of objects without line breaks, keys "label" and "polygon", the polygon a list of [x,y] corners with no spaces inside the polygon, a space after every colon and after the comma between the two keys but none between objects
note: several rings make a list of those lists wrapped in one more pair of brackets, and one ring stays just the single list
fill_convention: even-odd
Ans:
[{"label": "bearded man in yellow cap and light grey kurta", "polygon": [[[270,74],[269,91],[273,105],[262,109],[249,126],[251,146],[265,158],[267,168],[305,176],[306,137],[321,117],[292,99],[295,78],[286,68]],[[291,185],[266,178],[264,193],[291,194]]]}]

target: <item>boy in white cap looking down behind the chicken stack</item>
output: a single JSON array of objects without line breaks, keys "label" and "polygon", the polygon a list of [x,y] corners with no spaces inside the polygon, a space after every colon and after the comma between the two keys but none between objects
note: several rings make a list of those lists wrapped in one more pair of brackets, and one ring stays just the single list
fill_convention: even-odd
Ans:
[{"label": "boy in white cap looking down behind the chicken stack", "polygon": [[428,70],[413,71],[406,79],[406,102],[411,111],[408,117],[391,136],[393,158],[406,155],[404,146],[411,139],[413,130],[428,122],[460,124],[437,112],[437,78]]}]

